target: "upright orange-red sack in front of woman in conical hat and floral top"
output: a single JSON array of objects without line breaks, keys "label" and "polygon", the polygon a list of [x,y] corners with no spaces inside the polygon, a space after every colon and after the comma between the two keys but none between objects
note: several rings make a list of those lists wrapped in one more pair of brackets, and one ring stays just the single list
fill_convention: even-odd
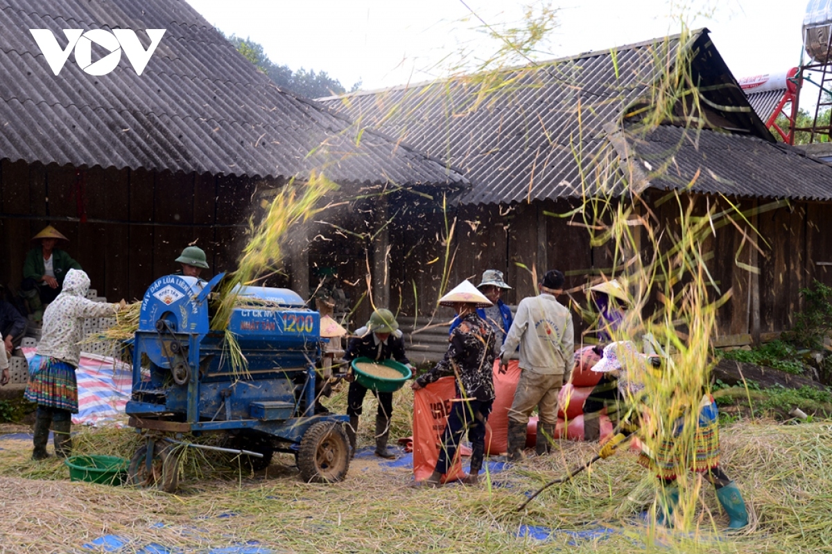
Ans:
[{"label": "upright orange-red sack in front of woman in conical hat and floral top", "polygon": [[[457,396],[454,380],[454,377],[443,377],[414,393],[414,478],[417,481],[430,477],[436,468],[442,435],[453,405],[451,400]],[[465,477],[460,454],[457,449],[443,483]]]}]

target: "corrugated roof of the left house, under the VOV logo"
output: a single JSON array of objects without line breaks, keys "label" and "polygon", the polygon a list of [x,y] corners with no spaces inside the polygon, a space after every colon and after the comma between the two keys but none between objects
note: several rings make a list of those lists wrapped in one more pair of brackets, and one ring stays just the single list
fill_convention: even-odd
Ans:
[{"label": "corrugated roof of the left house, under the VOV logo", "polygon": [[[54,76],[30,28],[164,28],[141,76],[70,56]],[[183,0],[0,0],[0,158],[341,183],[461,184],[443,162],[281,91]],[[95,47],[95,45],[94,45]],[[105,52],[106,53],[106,52]],[[94,54],[93,59],[97,59]]]}]

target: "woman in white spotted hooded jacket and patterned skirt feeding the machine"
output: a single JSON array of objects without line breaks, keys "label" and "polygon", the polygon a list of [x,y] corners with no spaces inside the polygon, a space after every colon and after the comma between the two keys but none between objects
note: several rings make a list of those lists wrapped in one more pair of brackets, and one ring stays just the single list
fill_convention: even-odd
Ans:
[{"label": "woman in white spotted hooded jacket and patterned skirt feeding the machine", "polygon": [[69,432],[72,414],[78,413],[75,370],[81,357],[82,324],[85,317],[114,316],[125,306],[87,300],[90,278],[77,269],[67,272],[61,294],[43,314],[41,341],[29,365],[26,400],[37,404],[35,449],[32,458],[47,458],[49,426],[54,431],[55,454],[66,458],[72,451]]}]

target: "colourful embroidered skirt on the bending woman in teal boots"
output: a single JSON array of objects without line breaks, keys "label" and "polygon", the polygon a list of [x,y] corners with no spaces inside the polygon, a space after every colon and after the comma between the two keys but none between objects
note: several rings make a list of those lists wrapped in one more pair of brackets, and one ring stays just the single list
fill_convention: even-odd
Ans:
[{"label": "colourful embroidered skirt on the bending woman in teal boots", "polygon": [[[705,473],[720,464],[720,429],[718,424],[719,410],[716,401],[708,395],[702,399],[699,411],[699,421],[694,434],[694,448],[696,453],[682,455],[679,451],[676,437],[681,434],[681,421],[674,432],[673,439],[662,441],[658,452],[650,457],[643,451],[639,455],[638,463],[656,473],[656,477],[671,481],[685,469],[696,473]],[[689,460],[685,463],[685,459]],[[687,466],[686,468],[683,466]]]}]

